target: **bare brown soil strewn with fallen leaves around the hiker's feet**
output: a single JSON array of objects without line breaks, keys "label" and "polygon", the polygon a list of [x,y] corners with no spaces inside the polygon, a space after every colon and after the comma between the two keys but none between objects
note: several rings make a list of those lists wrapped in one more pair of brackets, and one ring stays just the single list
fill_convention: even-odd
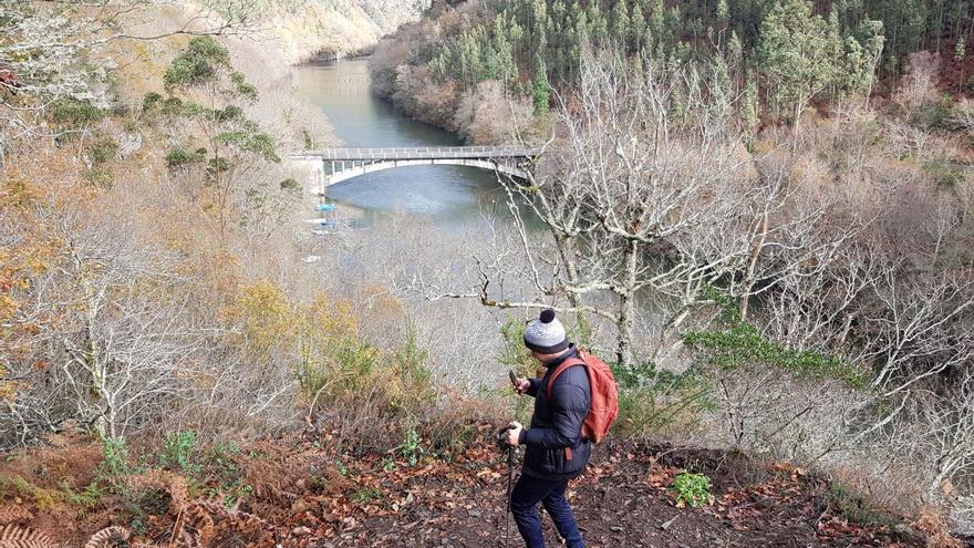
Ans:
[{"label": "bare brown soil strewn with fallen leaves around the hiker's feet", "polygon": [[[714,503],[680,508],[667,489],[683,469],[713,479]],[[392,516],[361,516],[336,539],[317,546],[505,546],[506,468],[481,468],[458,484],[437,474],[395,485],[392,499],[413,497]],[[515,473],[515,480],[517,473]],[[744,457],[703,449],[616,444],[599,447],[568,496],[591,548],[608,547],[848,547],[926,546],[900,527],[861,527],[838,516],[825,497],[827,482],[787,465],[758,466]],[[549,546],[562,546],[543,519]],[[520,546],[514,524],[510,546]]]}]

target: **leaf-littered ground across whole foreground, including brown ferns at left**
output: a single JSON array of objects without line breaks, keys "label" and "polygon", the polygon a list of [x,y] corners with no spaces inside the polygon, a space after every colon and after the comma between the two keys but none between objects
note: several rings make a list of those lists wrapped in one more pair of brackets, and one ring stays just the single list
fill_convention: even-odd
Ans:
[{"label": "leaf-littered ground across whole foreground, including brown ferns at left", "polygon": [[[80,493],[95,477],[97,453],[93,445],[42,449],[0,464],[0,477]],[[13,503],[32,514],[20,513],[22,526],[44,530],[63,546],[81,546],[110,525],[131,528],[133,542],[166,545],[182,528],[187,542],[219,548],[505,546],[505,456],[486,442],[449,462],[416,456],[335,456],[307,441],[265,442],[246,447],[234,463],[246,484],[232,485],[247,485],[248,493],[230,510],[214,503],[227,477],[204,465],[195,475],[156,473],[170,478],[173,487],[129,493],[128,503],[107,494],[84,508],[68,500],[51,504],[37,493],[31,500],[23,488],[7,483],[0,489],[0,518],[3,505]],[[228,469],[227,463],[220,466],[222,473]],[[674,504],[669,487],[684,469],[712,479],[712,504]],[[605,443],[568,496],[590,548],[929,546],[903,523],[848,523],[828,490],[826,479],[787,464],[761,466],[716,451]],[[137,519],[132,500],[139,506]],[[547,516],[545,524],[549,546],[561,546]],[[512,520],[510,546],[521,546]]]}]

